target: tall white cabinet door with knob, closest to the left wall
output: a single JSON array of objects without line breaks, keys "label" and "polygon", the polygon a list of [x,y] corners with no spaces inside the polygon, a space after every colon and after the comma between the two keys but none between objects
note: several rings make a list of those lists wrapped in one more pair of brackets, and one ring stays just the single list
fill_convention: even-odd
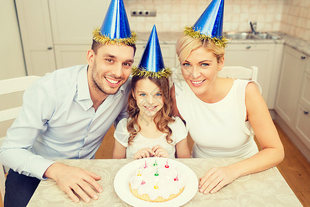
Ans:
[{"label": "tall white cabinet door with knob, closest to the left wall", "polygon": [[48,1],[15,0],[28,75],[56,69]]}]

